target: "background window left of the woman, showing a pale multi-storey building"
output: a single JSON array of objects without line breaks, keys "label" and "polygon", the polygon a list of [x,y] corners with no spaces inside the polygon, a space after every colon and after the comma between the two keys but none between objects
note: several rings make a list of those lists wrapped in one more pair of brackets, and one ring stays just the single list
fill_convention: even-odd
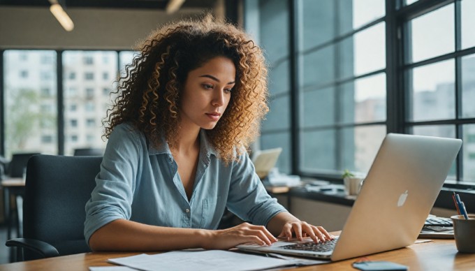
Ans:
[{"label": "background window left of the woman, showing a pale multi-storey building", "polygon": [[132,57],[129,51],[3,51],[3,155],[104,148],[113,84]]}]

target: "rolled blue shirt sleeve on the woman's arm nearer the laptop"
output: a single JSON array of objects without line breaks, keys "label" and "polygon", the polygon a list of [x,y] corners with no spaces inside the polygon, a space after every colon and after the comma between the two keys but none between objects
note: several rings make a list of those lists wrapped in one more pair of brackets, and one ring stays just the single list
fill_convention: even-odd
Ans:
[{"label": "rolled blue shirt sleeve on the woman's arm nearer the laptop", "polygon": [[286,212],[265,190],[247,153],[233,162],[227,207],[244,221],[263,226],[279,212]]}]

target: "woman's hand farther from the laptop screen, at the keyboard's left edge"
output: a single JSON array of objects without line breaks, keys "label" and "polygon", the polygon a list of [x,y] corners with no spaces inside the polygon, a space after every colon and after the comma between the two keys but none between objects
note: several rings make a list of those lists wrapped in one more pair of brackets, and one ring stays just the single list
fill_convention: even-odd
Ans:
[{"label": "woman's hand farther from the laptop screen, at the keyboard's left edge", "polygon": [[224,230],[212,230],[207,238],[204,249],[231,249],[238,244],[256,243],[258,245],[270,245],[277,242],[277,238],[264,226],[256,226],[243,223],[233,228]]}]

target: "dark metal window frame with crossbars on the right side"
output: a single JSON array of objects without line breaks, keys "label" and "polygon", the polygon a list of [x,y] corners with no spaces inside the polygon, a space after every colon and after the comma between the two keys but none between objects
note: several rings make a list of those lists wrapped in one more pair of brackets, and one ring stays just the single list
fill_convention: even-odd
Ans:
[{"label": "dark metal window frame with crossbars on the right side", "polygon": [[[244,1],[246,4],[247,1]],[[290,23],[290,33],[288,35],[288,42],[290,43],[290,65],[291,73],[289,80],[291,81],[291,101],[289,104],[291,112],[291,174],[300,175],[302,177],[313,177],[323,180],[330,180],[331,182],[342,182],[342,177],[340,174],[335,173],[335,171],[326,171],[320,170],[319,172],[309,172],[308,170],[300,170],[300,150],[302,149],[301,140],[302,133],[299,130],[300,119],[298,117],[301,110],[301,105],[299,103],[300,91],[302,87],[299,85],[298,78],[300,75],[299,67],[299,54],[298,51],[300,41],[298,24],[300,23],[301,13],[299,13],[299,1],[287,1],[288,3],[288,17]],[[380,22],[385,22],[386,30],[386,67],[380,71],[372,71],[364,75],[356,75],[352,78],[345,78],[342,81],[354,81],[360,78],[365,78],[380,72],[386,73],[386,121],[384,122],[371,122],[371,123],[354,123],[354,124],[335,124],[336,128],[342,128],[344,126],[368,126],[374,124],[383,124],[386,126],[386,133],[411,133],[412,127],[414,126],[424,126],[424,125],[442,125],[442,124],[451,124],[457,127],[456,129],[456,138],[462,138],[462,125],[463,124],[475,124],[475,118],[463,118],[461,117],[461,59],[470,54],[475,54],[475,47],[468,47],[461,50],[460,42],[460,0],[419,0],[410,5],[405,5],[404,0],[386,0],[386,14],[372,22],[368,22],[365,25],[360,26],[358,29],[353,29],[353,31],[346,33],[342,36],[337,36],[332,41],[318,45],[318,47],[327,46],[329,43],[337,44],[339,41],[342,41],[344,38],[353,36],[359,31],[363,31],[369,27],[374,26]],[[438,8],[444,7],[446,5],[453,4],[454,8],[454,18],[455,18],[455,50],[448,54],[443,54],[432,59],[424,59],[416,63],[407,63],[407,55],[409,55],[409,41],[410,41],[410,29],[408,27],[408,22],[418,16],[425,15],[437,10]],[[255,6],[249,4],[249,6]],[[245,6],[244,6],[244,10]],[[251,15],[255,11],[251,10]],[[245,16],[246,14],[244,14]],[[244,17],[244,22],[246,17]],[[255,20],[249,20],[251,23]],[[249,24],[250,27],[253,27]],[[407,111],[409,105],[409,92],[410,87],[409,76],[407,71],[411,68],[417,66],[424,66],[427,64],[437,63],[446,59],[455,59],[455,108],[457,110],[455,114],[455,119],[443,119],[435,121],[424,121],[424,122],[411,122],[408,120],[409,112]],[[270,67],[272,68],[272,66]],[[337,81],[335,84],[342,83]],[[404,91],[400,91],[404,89]],[[271,98],[274,98],[271,96]],[[300,128],[302,129],[302,128]],[[264,134],[264,133],[263,133]],[[338,152],[338,151],[337,151]],[[462,182],[462,167],[463,167],[463,149],[460,150],[460,153],[457,156],[457,172],[456,172],[456,181],[446,181],[444,187],[448,189],[460,189],[463,191],[475,189],[474,182]],[[337,154],[339,155],[339,154]],[[470,192],[471,193],[471,192]]]}]

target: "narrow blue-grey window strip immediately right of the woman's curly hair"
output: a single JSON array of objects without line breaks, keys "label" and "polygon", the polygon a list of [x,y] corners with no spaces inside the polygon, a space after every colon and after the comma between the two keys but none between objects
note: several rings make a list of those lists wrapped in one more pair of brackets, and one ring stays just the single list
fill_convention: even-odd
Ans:
[{"label": "narrow blue-grey window strip immediately right of the woman's curly hair", "polygon": [[290,19],[286,1],[250,1],[261,14],[252,31],[259,35],[269,64],[270,112],[261,129],[261,149],[282,147],[277,167],[291,173],[291,51],[288,37]]}]

